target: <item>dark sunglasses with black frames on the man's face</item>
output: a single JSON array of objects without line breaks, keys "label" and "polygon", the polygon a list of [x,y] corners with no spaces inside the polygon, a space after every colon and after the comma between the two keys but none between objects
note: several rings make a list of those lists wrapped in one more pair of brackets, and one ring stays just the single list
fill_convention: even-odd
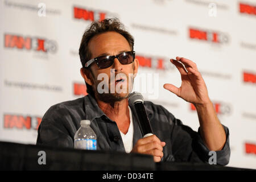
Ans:
[{"label": "dark sunglasses with black frames on the man's face", "polygon": [[115,56],[100,56],[95,57],[85,63],[85,67],[89,67],[94,61],[99,68],[104,69],[114,64],[114,59],[117,58],[121,64],[131,64],[135,59],[135,51],[122,52]]}]

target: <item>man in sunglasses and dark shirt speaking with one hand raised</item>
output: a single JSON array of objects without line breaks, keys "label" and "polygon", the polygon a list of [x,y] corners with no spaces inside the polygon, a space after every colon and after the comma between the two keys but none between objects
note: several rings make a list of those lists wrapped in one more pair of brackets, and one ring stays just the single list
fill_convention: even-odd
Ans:
[{"label": "man in sunglasses and dark shirt speaking with one hand raised", "polygon": [[[89,119],[97,135],[98,150],[149,154],[155,162],[208,162],[209,151],[216,151],[217,164],[228,164],[229,130],[218,121],[196,64],[184,57],[170,60],[181,74],[180,88],[171,84],[164,84],[164,88],[195,105],[199,131],[183,125],[163,106],[145,101],[154,135],[142,138],[127,101],[139,67],[133,46],[133,37],[117,19],[91,24],[82,36],[79,49],[80,72],[89,94],[52,106],[39,126],[37,144],[73,147],[80,121]],[[103,87],[102,80],[98,80],[102,74],[109,78],[104,80]],[[123,76],[118,77],[119,74]],[[112,75],[117,78],[110,79]],[[113,87],[125,92],[113,92]]]}]

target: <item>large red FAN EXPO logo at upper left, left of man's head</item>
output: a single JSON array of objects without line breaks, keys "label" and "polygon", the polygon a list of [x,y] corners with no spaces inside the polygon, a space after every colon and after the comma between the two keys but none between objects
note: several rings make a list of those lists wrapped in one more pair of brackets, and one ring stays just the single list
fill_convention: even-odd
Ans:
[{"label": "large red FAN EXPO logo at upper left, left of man's head", "polygon": [[5,34],[5,47],[45,53],[57,51],[57,43],[54,40],[15,34]]}]

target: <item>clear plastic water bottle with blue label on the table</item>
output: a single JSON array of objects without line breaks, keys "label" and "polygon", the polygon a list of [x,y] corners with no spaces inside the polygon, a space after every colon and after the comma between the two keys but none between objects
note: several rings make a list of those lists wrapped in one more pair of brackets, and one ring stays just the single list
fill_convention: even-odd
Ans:
[{"label": "clear plastic water bottle with blue label on the table", "polygon": [[90,127],[89,120],[82,120],[81,127],[74,137],[74,148],[83,150],[97,150],[97,137]]}]

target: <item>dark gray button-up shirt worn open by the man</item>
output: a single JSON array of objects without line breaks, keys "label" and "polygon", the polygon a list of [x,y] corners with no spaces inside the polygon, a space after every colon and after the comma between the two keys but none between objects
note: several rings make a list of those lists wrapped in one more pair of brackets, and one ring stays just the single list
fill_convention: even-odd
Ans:
[{"label": "dark gray button-up shirt worn open by the man", "polygon": [[[209,150],[200,137],[200,127],[197,132],[193,131],[163,106],[155,105],[150,101],[144,101],[144,105],[153,133],[161,141],[166,142],[166,146],[163,147],[163,162],[208,163],[212,155],[209,155]],[[137,140],[142,138],[142,134],[134,113],[132,115],[134,146]],[[82,119],[91,121],[90,127],[97,135],[97,150],[125,152],[117,124],[103,113],[96,100],[89,94],[51,106],[42,118],[36,144],[73,148],[74,135]],[[226,165],[230,157],[229,130],[222,126],[225,129],[226,142],[221,151],[216,151],[217,164]]]}]

